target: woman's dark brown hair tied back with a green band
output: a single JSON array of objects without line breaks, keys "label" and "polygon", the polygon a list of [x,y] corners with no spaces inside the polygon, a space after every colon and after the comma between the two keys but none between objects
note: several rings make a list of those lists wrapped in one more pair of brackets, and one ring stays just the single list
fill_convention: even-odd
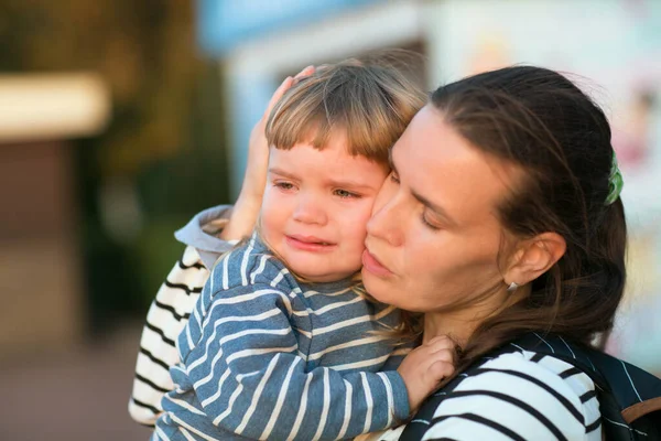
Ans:
[{"label": "woman's dark brown hair tied back with a green band", "polygon": [[566,241],[530,297],[476,330],[457,372],[525,332],[584,344],[609,332],[625,287],[627,227],[619,197],[605,203],[614,150],[604,111],[564,76],[532,66],[464,78],[431,101],[470,144],[523,171],[498,207],[505,228],[522,238],[555,232]]}]

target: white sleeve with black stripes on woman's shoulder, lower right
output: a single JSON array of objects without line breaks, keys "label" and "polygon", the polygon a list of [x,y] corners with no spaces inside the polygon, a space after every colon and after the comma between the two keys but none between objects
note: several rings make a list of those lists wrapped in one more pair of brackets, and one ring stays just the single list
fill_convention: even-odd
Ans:
[{"label": "white sleeve with black stripes on woman's shoulder, lower right", "polygon": [[522,354],[502,355],[447,392],[431,421],[410,423],[429,424],[423,439],[600,440],[598,404],[582,399],[594,384],[579,375],[567,383]]}]

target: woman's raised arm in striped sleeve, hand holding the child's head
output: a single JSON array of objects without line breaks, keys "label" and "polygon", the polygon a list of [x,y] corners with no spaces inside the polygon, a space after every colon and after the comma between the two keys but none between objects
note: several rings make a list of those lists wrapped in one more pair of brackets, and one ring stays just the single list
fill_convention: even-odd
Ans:
[{"label": "woman's raised arm in striped sleeve, hand holding the child's head", "polygon": [[[275,103],[296,79],[313,72],[314,67],[308,66],[295,77],[285,78],[271,97],[262,118],[253,127],[243,184],[235,208],[229,218],[212,220],[221,228],[221,239],[238,240],[250,235],[254,228],[269,161],[269,147],[264,135],[267,120]],[[129,413],[141,424],[153,427],[162,411],[163,395],[173,388],[169,369],[180,362],[174,340],[186,324],[208,275],[208,269],[199,260],[197,251],[193,247],[187,247],[150,306],[142,331],[133,389],[129,400]]]}]

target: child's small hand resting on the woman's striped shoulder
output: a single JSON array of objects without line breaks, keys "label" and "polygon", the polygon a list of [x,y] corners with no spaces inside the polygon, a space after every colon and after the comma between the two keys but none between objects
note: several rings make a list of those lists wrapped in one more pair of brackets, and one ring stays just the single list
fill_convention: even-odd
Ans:
[{"label": "child's small hand resting on the woman's striped shoulder", "polygon": [[407,355],[397,372],[404,379],[411,413],[454,373],[456,349],[447,336],[434,337]]}]

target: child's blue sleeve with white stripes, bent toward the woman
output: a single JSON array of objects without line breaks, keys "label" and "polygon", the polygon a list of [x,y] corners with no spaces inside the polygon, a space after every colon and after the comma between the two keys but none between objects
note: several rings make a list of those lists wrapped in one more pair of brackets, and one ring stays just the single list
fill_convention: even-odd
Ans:
[{"label": "child's blue sleeve with white stripes, bent toward the woman", "polygon": [[250,439],[273,440],[351,438],[405,418],[408,395],[397,372],[306,369],[296,338],[304,331],[292,326],[291,301],[258,284],[198,302],[206,311],[192,316],[180,349],[206,418]]}]

